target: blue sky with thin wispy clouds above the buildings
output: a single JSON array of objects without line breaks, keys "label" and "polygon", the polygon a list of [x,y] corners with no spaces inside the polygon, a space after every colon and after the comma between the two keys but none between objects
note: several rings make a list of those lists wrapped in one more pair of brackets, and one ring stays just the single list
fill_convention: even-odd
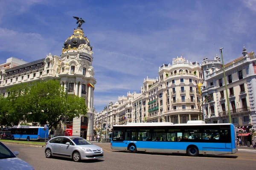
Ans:
[{"label": "blue sky with thin wispy clouds above the buildings", "polygon": [[[256,0],[0,0],[0,63],[61,55],[82,17],[93,46],[94,107],[102,111],[183,56],[224,62],[256,51]],[[253,19],[254,18],[254,19]]]}]

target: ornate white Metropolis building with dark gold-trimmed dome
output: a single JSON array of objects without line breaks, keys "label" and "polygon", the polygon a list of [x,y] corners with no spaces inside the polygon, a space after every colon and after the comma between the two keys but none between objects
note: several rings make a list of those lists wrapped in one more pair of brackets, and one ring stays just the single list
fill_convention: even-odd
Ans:
[{"label": "ornate white Metropolis building with dark gold-trimmed dome", "polygon": [[[60,57],[50,53],[46,58],[33,62],[16,62],[18,60],[11,57],[6,63],[15,66],[0,69],[0,92],[8,96],[6,88],[14,84],[45,78],[58,79],[61,86],[67,90],[67,94],[84,98],[88,107],[87,116],[66,120],[66,135],[89,139],[93,135],[93,94],[96,79],[92,66],[92,47],[87,37],[84,36],[81,25],[79,24],[79,27],[74,29],[73,35],[64,42]],[[26,123],[42,126],[39,122]],[[55,135],[63,134],[62,130],[63,124],[60,124]]]}]

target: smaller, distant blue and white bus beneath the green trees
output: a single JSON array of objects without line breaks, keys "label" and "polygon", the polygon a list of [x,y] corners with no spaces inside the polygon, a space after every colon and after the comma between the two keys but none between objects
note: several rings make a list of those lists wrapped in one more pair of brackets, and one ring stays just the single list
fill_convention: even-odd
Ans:
[{"label": "smaller, distant blue and white bus beneath the green trees", "polygon": [[44,140],[49,135],[49,129],[44,130],[44,127],[38,126],[23,126],[17,125],[9,128],[12,133],[13,140]]}]

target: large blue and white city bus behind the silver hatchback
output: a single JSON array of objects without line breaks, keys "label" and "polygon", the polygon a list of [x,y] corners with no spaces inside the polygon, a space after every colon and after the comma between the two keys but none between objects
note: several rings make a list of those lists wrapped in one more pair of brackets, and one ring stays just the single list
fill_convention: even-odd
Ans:
[{"label": "large blue and white city bus behind the silver hatchback", "polygon": [[233,124],[204,121],[113,125],[111,148],[131,153],[187,153],[189,156],[231,154],[237,152],[236,130]]}]

